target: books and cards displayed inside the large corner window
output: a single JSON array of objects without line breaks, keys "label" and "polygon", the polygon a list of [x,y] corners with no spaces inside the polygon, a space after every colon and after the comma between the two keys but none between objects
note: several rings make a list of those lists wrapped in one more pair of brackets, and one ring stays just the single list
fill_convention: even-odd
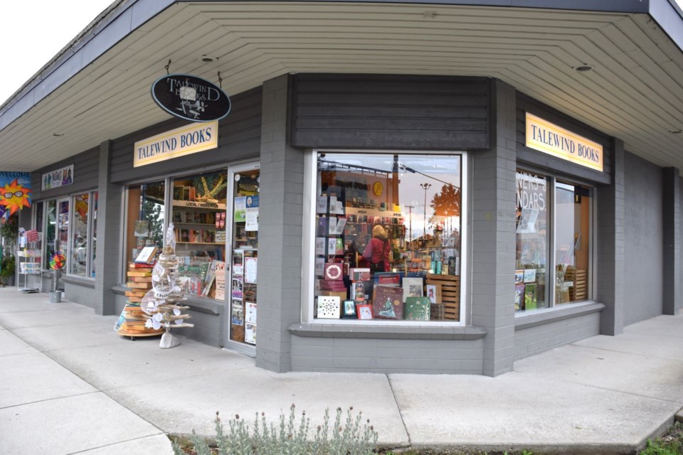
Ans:
[{"label": "books and cards displayed inside the large corner window", "polygon": [[[409,245],[400,206],[341,193],[317,198],[314,317],[458,321],[460,277],[455,259],[447,259],[455,239],[435,235],[430,245]],[[378,224],[391,245],[391,272],[371,274],[361,256]]]}]

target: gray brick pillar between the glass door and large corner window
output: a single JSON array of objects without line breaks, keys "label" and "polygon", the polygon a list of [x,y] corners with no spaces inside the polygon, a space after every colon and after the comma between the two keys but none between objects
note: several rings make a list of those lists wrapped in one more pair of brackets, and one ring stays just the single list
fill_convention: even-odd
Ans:
[{"label": "gray brick pillar between the glass door and large corner window", "polygon": [[256,366],[291,370],[287,328],[301,321],[304,152],[287,145],[288,77],[263,84]]}]

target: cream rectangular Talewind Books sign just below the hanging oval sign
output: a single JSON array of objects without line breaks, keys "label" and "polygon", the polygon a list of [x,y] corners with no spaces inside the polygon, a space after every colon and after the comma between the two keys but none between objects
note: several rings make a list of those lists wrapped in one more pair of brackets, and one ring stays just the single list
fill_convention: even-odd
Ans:
[{"label": "cream rectangular Talewind Books sign just below the hanging oval sign", "polygon": [[133,167],[145,166],[218,146],[218,120],[194,123],[137,141]]}]

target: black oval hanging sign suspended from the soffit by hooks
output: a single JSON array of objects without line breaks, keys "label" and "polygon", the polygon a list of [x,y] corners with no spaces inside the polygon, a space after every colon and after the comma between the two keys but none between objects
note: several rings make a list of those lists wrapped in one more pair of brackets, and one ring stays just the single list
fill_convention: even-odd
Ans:
[{"label": "black oval hanging sign suspended from the soffit by hooks", "polygon": [[220,120],[230,113],[230,98],[201,77],[169,74],[152,84],[154,102],[171,115],[191,122]]}]

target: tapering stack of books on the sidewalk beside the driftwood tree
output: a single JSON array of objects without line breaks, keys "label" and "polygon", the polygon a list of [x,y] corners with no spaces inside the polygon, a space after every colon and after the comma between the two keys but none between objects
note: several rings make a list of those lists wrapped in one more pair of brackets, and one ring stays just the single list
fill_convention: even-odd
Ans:
[{"label": "tapering stack of books on the sidewalk beside the driftwood tree", "polygon": [[164,328],[154,330],[147,328],[144,323],[144,311],[140,308],[140,302],[144,294],[152,289],[152,264],[130,263],[128,266],[126,286],[126,306],[119,317],[115,331],[124,336],[154,336],[164,333]]}]

